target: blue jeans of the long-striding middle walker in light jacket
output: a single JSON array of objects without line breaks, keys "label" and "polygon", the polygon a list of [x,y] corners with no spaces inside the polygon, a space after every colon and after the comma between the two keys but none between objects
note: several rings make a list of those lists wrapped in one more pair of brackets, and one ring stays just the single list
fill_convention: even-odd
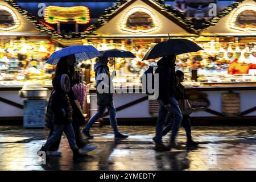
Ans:
[{"label": "blue jeans of the long-striding middle walker in light jacket", "polygon": [[101,116],[104,114],[105,110],[108,109],[109,111],[109,119],[110,119],[110,125],[112,126],[112,129],[115,134],[118,134],[118,127],[117,127],[117,111],[115,110],[114,102],[110,102],[107,106],[98,106],[98,111],[96,114],[94,114],[86,126],[84,127],[85,131],[89,131],[90,127],[92,127],[93,123],[97,121],[97,119],[101,118]]}]

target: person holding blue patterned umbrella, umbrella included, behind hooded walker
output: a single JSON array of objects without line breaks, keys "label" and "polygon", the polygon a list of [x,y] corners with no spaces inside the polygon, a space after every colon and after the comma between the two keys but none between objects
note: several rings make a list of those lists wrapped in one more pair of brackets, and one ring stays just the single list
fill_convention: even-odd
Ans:
[{"label": "person holding blue patterned umbrella, umbrella included, behind hooded walker", "polygon": [[[51,57],[47,60],[49,64],[57,64],[55,76],[59,75],[68,75],[71,82],[71,87],[79,82],[79,74],[75,72],[75,63],[79,60],[92,59],[93,57],[100,56],[101,53],[97,51],[96,48],[92,46],[69,46],[63,48],[59,51],[54,52]],[[53,89],[54,92],[54,89]],[[53,94],[52,92],[52,94]],[[53,134],[53,112],[52,112],[52,94],[49,98],[47,112],[46,112],[46,126],[51,130],[49,137]],[[84,120],[84,116],[77,107],[75,100],[76,97],[72,89],[67,92],[69,102],[72,106],[72,127],[75,133],[76,144],[78,148],[81,148],[81,153],[85,154],[86,152],[94,150],[97,146],[91,146],[81,137],[79,123]],[[61,138],[55,140],[51,146],[48,148],[47,155],[61,155],[61,152],[58,151]]]}]

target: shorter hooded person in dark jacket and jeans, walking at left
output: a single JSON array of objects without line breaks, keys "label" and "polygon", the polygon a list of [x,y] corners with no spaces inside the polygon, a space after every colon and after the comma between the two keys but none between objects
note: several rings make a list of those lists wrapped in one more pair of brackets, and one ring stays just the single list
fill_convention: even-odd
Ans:
[{"label": "shorter hooded person in dark jacket and jeans, walking at left", "polygon": [[73,151],[73,159],[84,157],[76,146],[75,133],[72,127],[72,106],[67,92],[70,90],[69,77],[65,74],[55,76],[52,80],[54,92],[52,93],[53,131],[52,135],[39,151],[47,152],[51,145],[58,140],[63,131],[67,136],[69,146]]}]

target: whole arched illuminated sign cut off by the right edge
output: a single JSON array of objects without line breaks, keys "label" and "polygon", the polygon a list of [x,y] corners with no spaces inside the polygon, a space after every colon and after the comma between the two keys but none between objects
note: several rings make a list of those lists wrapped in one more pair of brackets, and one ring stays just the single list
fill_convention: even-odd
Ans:
[{"label": "whole arched illuminated sign cut off by the right edge", "polygon": [[256,6],[242,6],[229,22],[231,28],[241,31],[256,31]]}]

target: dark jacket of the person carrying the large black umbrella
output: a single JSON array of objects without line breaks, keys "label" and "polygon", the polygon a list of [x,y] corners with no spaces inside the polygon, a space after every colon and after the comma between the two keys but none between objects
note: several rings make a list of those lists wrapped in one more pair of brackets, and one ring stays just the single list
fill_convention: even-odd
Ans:
[{"label": "dark jacket of the person carrying the large black umbrella", "polygon": [[158,68],[155,73],[159,74],[159,100],[164,104],[169,104],[169,97],[174,97],[176,93],[177,78],[175,64],[163,57],[158,61]]}]

